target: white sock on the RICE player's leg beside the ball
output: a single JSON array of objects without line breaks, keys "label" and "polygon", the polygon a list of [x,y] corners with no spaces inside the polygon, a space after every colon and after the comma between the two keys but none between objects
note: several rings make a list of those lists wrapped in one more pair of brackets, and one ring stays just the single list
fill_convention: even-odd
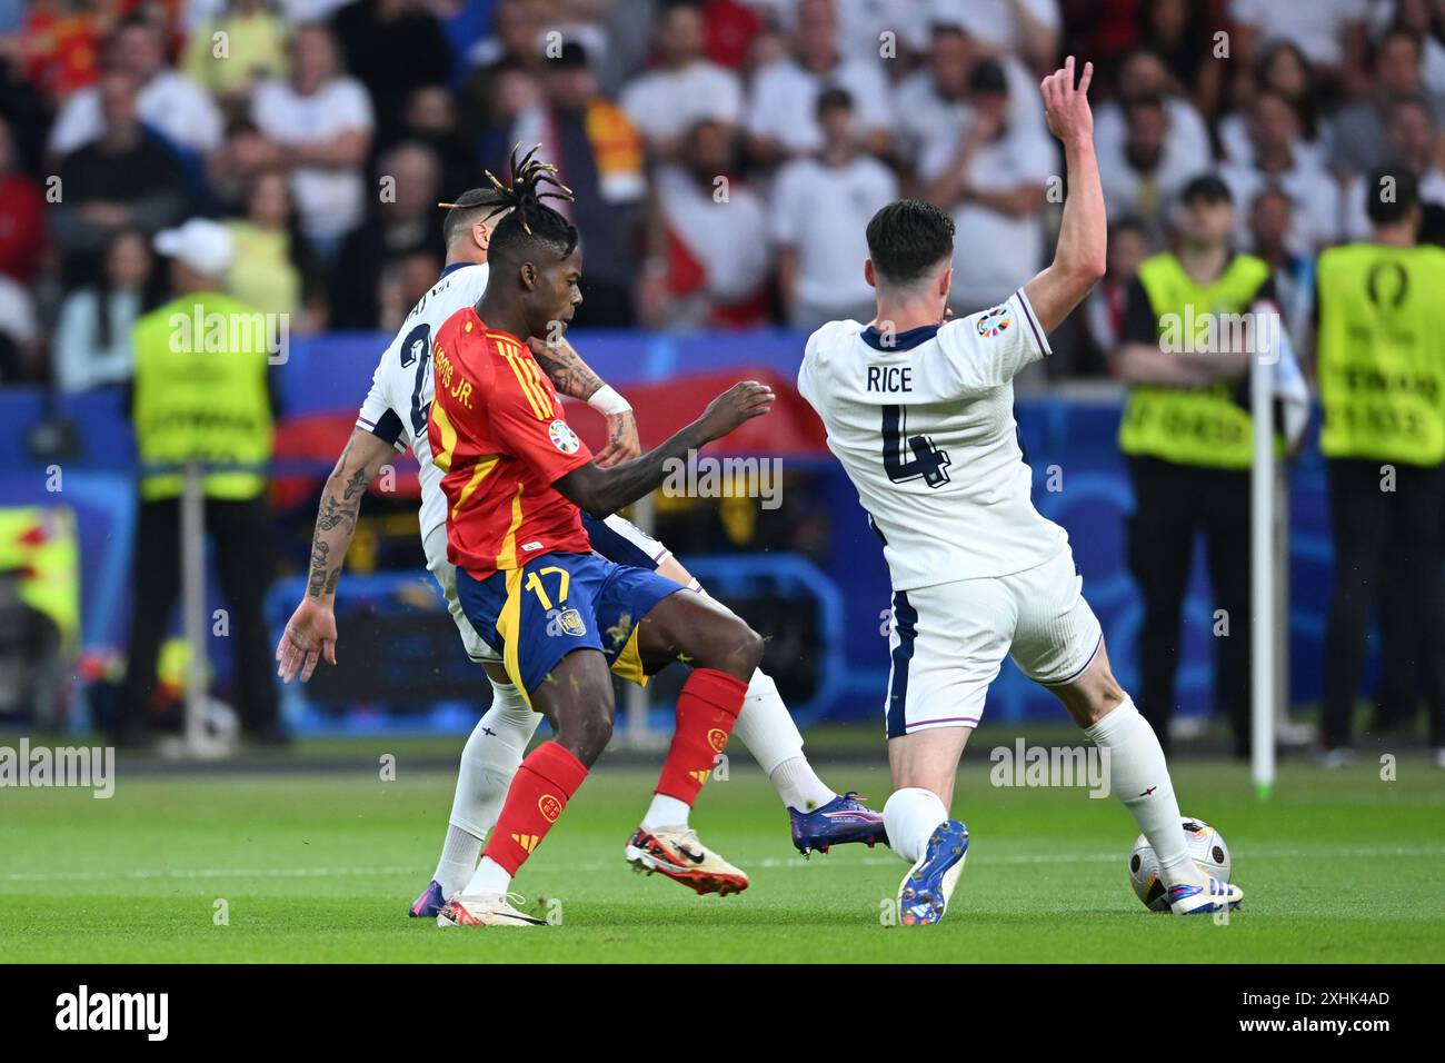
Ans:
[{"label": "white sock on the RICE player's leg beside the ball", "polygon": [[1085,727],[1085,735],[1100,749],[1108,751],[1108,787],[1134,816],[1140,833],[1159,856],[1165,885],[1204,884],[1204,872],[1189,858],[1175,798],[1169,765],[1159,736],[1149,726],[1131,697],[1124,697],[1113,712]]}]

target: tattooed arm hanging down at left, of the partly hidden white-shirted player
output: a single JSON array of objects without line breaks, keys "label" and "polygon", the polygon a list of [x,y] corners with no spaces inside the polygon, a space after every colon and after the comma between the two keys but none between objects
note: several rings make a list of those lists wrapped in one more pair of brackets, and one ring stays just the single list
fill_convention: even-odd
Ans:
[{"label": "tattooed arm hanging down at left, of the partly hidden white-shirted player", "polygon": [[276,674],[286,683],[311,678],[316,662],[325,657],[337,662],[337,581],[357,529],[361,496],[396,451],[377,435],[361,428],[351,431],[347,448],[321,490],[316,531],[311,539],[311,571],[306,596],[286,620],[286,631],[276,644]]}]

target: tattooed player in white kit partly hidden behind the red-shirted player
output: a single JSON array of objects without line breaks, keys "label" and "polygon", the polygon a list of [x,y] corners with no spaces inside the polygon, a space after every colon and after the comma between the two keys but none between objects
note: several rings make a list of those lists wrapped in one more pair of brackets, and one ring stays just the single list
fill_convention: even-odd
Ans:
[{"label": "tattooed player in white kit partly hidden behind the red-shirted player", "polygon": [[[471,879],[483,837],[496,821],[512,777],[542,719],[507,680],[500,658],[473,629],[457,599],[455,571],[447,560],[442,471],[432,464],[426,438],[434,390],[432,337],[448,317],[474,305],[487,288],[487,244],[491,230],[501,220],[499,202],[500,197],[493,189],[473,189],[457,204],[447,204],[451,207],[442,229],[447,266],[436,285],[412,308],[376,367],[351,438],[322,490],[306,593],[276,646],[277,673],[286,681],[298,674],[302,681],[309,680],[321,659],[337,662],[337,581],[355,532],[361,496],[397,451],[410,448],[420,464],[420,532],[426,567],[447,599],[467,654],[486,668],[493,687],[491,707],[477,722],[462,751],[436,874],[410,910],[419,918],[435,917]],[[640,453],[631,408],[603,383],[571,344],[564,340],[549,347],[533,340],[532,353],[559,392],[585,399],[607,415],[608,445],[598,454],[598,464],[613,464]],[[618,564],[653,568],[701,593],[696,580],[670,551],[629,521],[620,516],[605,521],[587,518],[584,524],[598,554]],[[847,842],[871,846],[887,840],[880,813],[867,808],[851,791],[834,793],[814,772],[803,755],[802,735],[776,684],[763,671],[754,673],[749,684],[734,733],[788,807],[793,845],[805,856],[814,849],[827,852],[829,846]],[[643,826],[668,843],[665,849],[669,853],[676,850],[676,855],[653,853],[649,869],[699,888],[702,881],[694,866],[696,845],[686,814],[686,806],[676,798],[653,798]]]}]

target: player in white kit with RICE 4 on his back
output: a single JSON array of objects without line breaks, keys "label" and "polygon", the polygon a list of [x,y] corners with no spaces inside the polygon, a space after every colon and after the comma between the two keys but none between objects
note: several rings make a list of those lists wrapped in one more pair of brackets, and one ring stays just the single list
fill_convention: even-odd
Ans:
[{"label": "player in white kit with RICE 4 on his back", "polygon": [[[828,430],[883,541],[893,581],[889,764],[883,810],[905,924],[936,923],[964,866],[954,777],[1004,654],[1048,687],[1100,748],[1110,787],[1153,845],[1176,914],[1238,904],[1243,891],[1189,859],[1153,729],[1114,680],[1079,590],[1068,537],[1030,500],[1013,377],[1049,353],[1048,333],[1104,275],[1104,197],[1087,90],[1074,58],[1042,82],[1064,142],[1068,200],[1052,265],[1001,307],[945,321],[954,224],[900,201],[868,223],[868,325],[832,321],[808,340],[798,386]],[[987,247],[970,249],[987,255]]]}]

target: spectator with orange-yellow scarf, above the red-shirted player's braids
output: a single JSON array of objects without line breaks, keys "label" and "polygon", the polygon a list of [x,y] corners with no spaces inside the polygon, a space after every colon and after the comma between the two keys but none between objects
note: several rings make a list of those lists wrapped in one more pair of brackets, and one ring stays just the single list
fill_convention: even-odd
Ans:
[{"label": "spectator with orange-yellow scarf, above the red-shirted player's braids", "polygon": [[[575,40],[546,61],[545,97],[522,110],[510,143],[540,143],[574,201],[549,201],[582,233],[587,256],[578,325],[630,325],[640,247],[640,207],[647,194],[642,137],[604,98],[587,52]],[[500,159],[490,165],[501,174]],[[721,171],[714,171],[721,172]]]}]

